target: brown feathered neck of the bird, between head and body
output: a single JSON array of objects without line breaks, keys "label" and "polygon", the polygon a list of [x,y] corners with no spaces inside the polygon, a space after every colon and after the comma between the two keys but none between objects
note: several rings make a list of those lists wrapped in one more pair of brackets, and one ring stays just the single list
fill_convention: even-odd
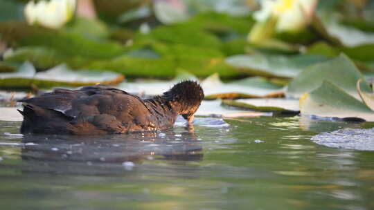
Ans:
[{"label": "brown feathered neck of the bird, between head and body", "polygon": [[166,101],[162,97],[154,97],[152,99],[145,99],[145,105],[157,118],[159,128],[171,128],[174,126],[175,120],[178,117],[178,110],[175,104]]}]

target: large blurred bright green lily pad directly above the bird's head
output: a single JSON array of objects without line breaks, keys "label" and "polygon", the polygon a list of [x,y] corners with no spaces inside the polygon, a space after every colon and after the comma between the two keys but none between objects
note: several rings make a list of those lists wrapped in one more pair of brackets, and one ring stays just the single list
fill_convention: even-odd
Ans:
[{"label": "large blurred bright green lily pad directly above the bird's head", "polygon": [[[156,45],[157,44],[157,45]],[[160,57],[134,57],[124,55],[112,60],[92,61],[84,68],[113,70],[127,77],[174,77],[177,69],[182,68],[197,77],[208,77],[220,73],[224,78],[235,78],[240,74],[224,62],[224,55],[215,48],[202,48],[185,44],[152,45],[154,55]],[[144,46],[148,46],[145,44]]]}]

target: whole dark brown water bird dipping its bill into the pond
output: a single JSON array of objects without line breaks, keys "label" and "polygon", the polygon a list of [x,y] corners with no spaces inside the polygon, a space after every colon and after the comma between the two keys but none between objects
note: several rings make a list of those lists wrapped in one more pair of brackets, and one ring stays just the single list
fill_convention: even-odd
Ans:
[{"label": "whole dark brown water bird dipping its bill into the pond", "polygon": [[78,90],[55,88],[20,99],[23,134],[105,135],[172,128],[181,115],[188,125],[204,99],[198,82],[186,80],[149,99],[98,84]]}]

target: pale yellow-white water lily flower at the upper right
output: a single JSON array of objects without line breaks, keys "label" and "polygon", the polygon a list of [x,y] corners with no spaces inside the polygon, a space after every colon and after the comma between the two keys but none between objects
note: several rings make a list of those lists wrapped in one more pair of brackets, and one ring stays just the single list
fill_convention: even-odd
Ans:
[{"label": "pale yellow-white water lily flower at the upper right", "polygon": [[264,22],[276,18],[276,30],[294,32],[301,30],[312,19],[318,0],[262,0],[261,10],[253,17]]}]

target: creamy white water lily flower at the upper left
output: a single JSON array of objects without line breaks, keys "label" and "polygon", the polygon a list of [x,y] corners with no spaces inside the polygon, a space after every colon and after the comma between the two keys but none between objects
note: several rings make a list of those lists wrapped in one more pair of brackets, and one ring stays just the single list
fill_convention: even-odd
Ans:
[{"label": "creamy white water lily flower at the upper left", "polygon": [[29,24],[60,28],[74,14],[76,0],[29,1],[24,13]]}]

